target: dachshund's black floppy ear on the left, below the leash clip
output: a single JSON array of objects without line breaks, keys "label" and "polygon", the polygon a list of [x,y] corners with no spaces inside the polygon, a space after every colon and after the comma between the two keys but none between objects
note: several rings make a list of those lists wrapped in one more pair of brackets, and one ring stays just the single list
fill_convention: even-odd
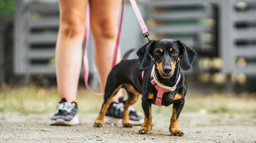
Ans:
[{"label": "dachshund's black floppy ear on the left, below the leash clip", "polygon": [[140,68],[142,70],[147,69],[151,63],[151,57],[150,57],[150,47],[154,43],[155,40],[151,40],[150,42],[146,43],[144,46],[139,48],[137,51],[137,55],[140,60]]}]

